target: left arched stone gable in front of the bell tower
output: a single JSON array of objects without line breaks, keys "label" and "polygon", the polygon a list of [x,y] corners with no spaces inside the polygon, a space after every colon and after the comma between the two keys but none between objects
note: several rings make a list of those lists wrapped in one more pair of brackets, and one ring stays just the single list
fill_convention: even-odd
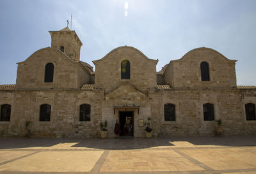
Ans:
[{"label": "left arched stone gable in front of the bell tower", "polygon": [[17,89],[77,88],[79,63],[60,50],[43,48],[18,65]]}]

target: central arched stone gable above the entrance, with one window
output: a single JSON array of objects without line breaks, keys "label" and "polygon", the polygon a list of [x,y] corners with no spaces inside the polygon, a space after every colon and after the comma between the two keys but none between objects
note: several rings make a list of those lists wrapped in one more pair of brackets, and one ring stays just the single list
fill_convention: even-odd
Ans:
[{"label": "central arched stone gable above the entrance, with one window", "polygon": [[142,91],[156,86],[157,60],[148,59],[136,48],[118,47],[93,63],[95,86],[106,91],[111,91],[124,82],[129,82]]}]

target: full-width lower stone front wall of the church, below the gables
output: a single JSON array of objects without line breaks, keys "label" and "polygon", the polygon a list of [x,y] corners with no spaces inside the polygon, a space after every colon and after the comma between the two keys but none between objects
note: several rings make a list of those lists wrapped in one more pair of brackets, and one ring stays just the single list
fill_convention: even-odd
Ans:
[{"label": "full-width lower stone front wall of the church, below the gables", "polygon": [[[122,92],[126,91],[126,92]],[[164,121],[164,104],[175,105],[175,121]],[[108,136],[113,137],[119,112],[131,111],[134,136],[143,137],[139,119],[151,117],[154,136],[214,136],[217,122],[204,121],[203,105],[214,105],[214,120],[221,119],[224,135],[256,134],[256,121],[246,121],[244,105],[256,103],[255,90],[239,89],[150,89],[143,94],[131,85],[105,93],[93,91],[44,90],[0,92],[0,105],[12,105],[10,122],[0,122],[0,136],[22,136],[25,122],[35,137],[96,137],[100,122],[108,121]],[[40,122],[40,105],[51,105],[51,121]],[[79,121],[79,106],[91,105],[90,122]],[[138,108],[114,106],[136,105]],[[145,128],[145,127],[144,127]]]}]

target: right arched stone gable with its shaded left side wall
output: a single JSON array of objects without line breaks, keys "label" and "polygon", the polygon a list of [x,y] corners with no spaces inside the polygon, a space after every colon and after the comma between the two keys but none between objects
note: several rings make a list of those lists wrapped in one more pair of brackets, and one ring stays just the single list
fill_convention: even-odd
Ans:
[{"label": "right arched stone gable with its shaded left side wall", "polygon": [[170,62],[164,71],[165,81],[178,88],[236,87],[235,64],[216,50],[196,48]]}]

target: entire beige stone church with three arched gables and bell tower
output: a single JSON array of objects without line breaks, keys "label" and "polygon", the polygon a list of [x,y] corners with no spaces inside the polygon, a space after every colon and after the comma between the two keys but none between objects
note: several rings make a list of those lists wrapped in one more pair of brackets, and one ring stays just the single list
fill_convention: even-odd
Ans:
[{"label": "entire beige stone church with three arched gables and bell tower", "polygon": [[[236,85],[236,60],[211,48],[195,48],[156,71],[158,60],[134,47],[118,47],[90,64],[68,27],[49,31],[51,47],[18,62],[17,80],[0,85],[0,136],[108,137],[256,134],[256,87]],[[125,125],[129,131],[125,131]]]}]

